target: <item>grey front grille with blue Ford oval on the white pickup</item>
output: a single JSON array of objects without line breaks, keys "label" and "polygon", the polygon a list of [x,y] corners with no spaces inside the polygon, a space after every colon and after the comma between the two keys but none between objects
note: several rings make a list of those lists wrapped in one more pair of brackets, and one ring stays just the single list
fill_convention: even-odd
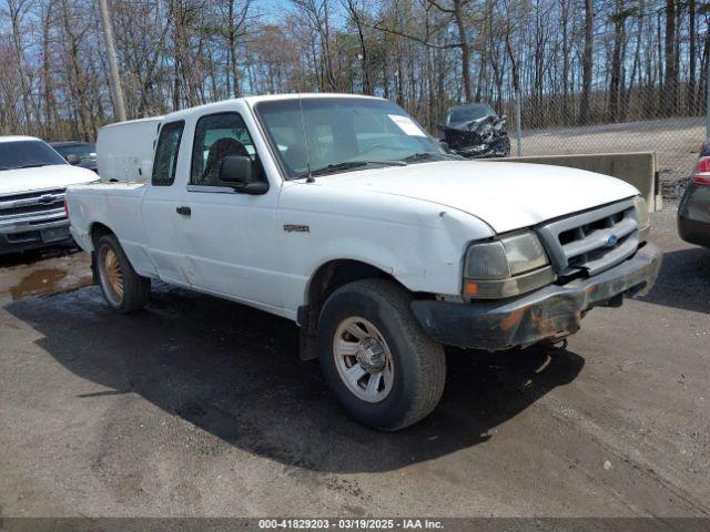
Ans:
[{"label": "grey front grille with blue Ford oval on the white pickup", "polygon": [[628,200],[561,218],[539,227],[538,234],[559,275],[597,275],[636,253],[639,221]]}]

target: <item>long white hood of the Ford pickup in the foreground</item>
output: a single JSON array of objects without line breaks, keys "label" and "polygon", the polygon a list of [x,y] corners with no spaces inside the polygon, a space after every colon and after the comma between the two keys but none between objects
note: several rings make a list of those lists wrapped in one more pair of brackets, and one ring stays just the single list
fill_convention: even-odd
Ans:
[{"label": "long white hood of the Ford pickup in the foreground", "polygon": [[562,166],[440,161],[316,177],[318,186],[406,196],[471,214],[505,233],[635,196],[628,183]]}]

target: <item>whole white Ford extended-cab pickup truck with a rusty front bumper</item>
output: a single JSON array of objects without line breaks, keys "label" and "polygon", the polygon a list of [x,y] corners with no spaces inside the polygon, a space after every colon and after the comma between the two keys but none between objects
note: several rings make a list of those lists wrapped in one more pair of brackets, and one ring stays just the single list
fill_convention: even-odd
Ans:
[{"label": "whole white Ford extended-cab pickup truck with a rusty front bumper", "polygon": [[345,410],[384,430],[436,407],[444,345],[560,341],[660,267],[631,185],[460,160],[376,98],[166,115],[150,183],[72,186],[67,202],[115,310],[161,279],[290,318]]}]

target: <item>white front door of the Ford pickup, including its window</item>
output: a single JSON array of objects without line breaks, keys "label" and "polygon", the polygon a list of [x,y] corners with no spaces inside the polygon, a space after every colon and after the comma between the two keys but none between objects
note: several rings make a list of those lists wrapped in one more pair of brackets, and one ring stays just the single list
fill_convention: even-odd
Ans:
[{"label": "white front door of the Ford pickup, including its window", "polygon": [[206,291],[268,309],[282,306],[274,248],[278,188],[263,195],[236,192],[220,181],[220,163],[230,155],[252,160],[252,181],[266,181],[252,136],[236,112],[200,117],[194,127],[180,224],[184,272]]}]

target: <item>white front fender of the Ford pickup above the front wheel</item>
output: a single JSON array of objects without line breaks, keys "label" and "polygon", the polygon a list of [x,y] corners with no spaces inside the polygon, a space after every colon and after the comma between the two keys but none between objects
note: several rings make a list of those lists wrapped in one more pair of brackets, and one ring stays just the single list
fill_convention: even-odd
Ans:
[{"label": "white front fender of the Ford pickup above the front wheel", "polygon": [[468,243],[494,235],[467,213],[408,197],[355,191],[345,196],[311,185],[288,186],[282,196],[276,231],[301,228],[277,238],[291,277],[284,306],[293,310],[306,304],[318,268],[337,259],[376,267],[412,291],[458,295]]}]

